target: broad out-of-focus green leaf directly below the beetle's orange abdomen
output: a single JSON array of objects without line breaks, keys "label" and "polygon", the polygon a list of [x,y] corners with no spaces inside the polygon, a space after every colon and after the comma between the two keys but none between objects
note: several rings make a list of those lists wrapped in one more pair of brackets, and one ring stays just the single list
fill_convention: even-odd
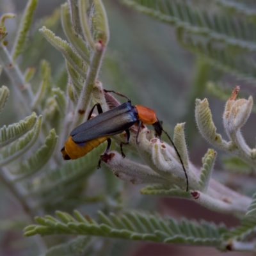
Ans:
[{"label": "broad out-of-focus green leaf directly below the beetle's orange abdomen", "polygon": [[38,200],[37,207],[69,196],[92,175],[104,147],[106,145],[102,144],[84,157],[69,161],[55,170],[45,170],[44,175],[36,177],[32,182],[26,181],[24,187],[28,190],[28,196]]}]

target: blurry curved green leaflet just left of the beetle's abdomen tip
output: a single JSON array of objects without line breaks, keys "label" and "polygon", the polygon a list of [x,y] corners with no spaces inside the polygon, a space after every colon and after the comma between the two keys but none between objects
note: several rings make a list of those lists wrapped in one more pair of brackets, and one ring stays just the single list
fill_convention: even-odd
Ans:
[{"label": "blurry curved green leaflet just left of the beetle's abdomen tip", "polygon": [[38,148],[35,154],[30,156],[28,160],[20,162],[19,168],[10,170],[10,172],[13,175],[22,175],[22,178],[24,178],[24,175],[38,172],[38,170],[42,169],[51,158],[57,141],[58,136],[56,135],[55,130],[52,129],[47,138],[45,138],[44,145]]}]

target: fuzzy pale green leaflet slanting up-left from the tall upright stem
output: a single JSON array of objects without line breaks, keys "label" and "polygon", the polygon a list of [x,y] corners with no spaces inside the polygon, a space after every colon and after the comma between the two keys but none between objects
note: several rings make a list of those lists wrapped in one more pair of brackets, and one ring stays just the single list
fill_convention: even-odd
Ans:
[{"label": "fuzzy pale green leaflet slanting up-left from the tall upright stem", "polygon": [[70,45],[62,40],[59,36],[55,36],[54,33],[45,27],[39,29],[44,34],[45,38],[54,46],[56,49],[61,51],[65,59],[72,65],[72,67],[84,78],[86,78],[87,65],[83,60],[76,54],[76,52],[70,47]]}]

